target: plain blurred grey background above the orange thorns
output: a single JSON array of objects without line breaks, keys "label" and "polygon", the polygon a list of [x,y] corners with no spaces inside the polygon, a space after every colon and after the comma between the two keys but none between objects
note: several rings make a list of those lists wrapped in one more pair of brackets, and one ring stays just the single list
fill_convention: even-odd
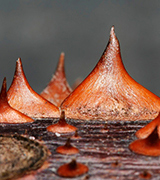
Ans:
[{"label": "plain blurred grey background above the orange thorns", "polygon": [[21,57],[40,93],[65,52],[72,86],[100,59],[112,25],[128,73],[160,96],[159,0],[0,0],[0,82],[6,76],[10,86]]}]

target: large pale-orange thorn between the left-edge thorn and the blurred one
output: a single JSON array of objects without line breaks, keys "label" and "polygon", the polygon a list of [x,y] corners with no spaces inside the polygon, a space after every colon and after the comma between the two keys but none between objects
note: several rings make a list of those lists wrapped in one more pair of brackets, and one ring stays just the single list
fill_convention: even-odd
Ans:
[{"label": "large pale-orange thorn between the left-edge thorn and the blurred one", "polygon": [[59,109],[30,87],[20,58],[16,62],[15,75],[7,95],[11,107],[30,117],[59,117]]}]

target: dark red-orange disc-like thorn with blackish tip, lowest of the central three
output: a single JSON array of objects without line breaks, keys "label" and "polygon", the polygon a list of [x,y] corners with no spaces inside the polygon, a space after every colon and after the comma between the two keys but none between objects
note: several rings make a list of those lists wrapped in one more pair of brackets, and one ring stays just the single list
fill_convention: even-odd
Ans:
[{"label": "dark red-orange disc-like thorn with blackish tip, lowest of the central three", "polygon": [[84,164],[77,163],[76,160],[72,160],[70,163],[60,166],[57,173],[61,177],[77,177],[88,172],[88,167]]}]

